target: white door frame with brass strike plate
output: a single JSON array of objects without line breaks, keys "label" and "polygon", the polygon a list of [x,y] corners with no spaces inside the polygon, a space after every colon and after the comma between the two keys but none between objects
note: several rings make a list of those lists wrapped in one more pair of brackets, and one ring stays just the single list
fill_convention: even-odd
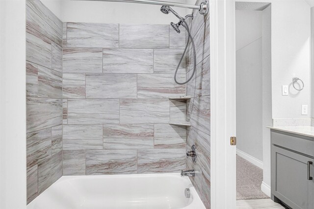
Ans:
[{"label": "white door frame with brass strike plate", "polygon": [[235,0],[210,0],[210,203],[236,207]]}]

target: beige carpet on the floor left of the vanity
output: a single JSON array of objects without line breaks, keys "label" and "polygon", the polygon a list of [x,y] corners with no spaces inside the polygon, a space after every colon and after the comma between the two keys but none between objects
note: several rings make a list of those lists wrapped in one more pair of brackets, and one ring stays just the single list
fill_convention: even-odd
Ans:
[{"label": "beige carpet on the floor left of the vanity", "polygon": [[263,170],[258,166],[236,156],[236,199],[269,198],[261,190]]}]

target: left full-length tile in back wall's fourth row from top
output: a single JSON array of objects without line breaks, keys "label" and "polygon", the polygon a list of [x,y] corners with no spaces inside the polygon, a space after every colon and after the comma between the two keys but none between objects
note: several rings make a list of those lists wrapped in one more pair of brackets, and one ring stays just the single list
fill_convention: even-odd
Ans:
[{"label": "left full-length tile in back wall's fourth row from top", "polygon": [[68,99],[68,124],[119,123],[119,99]]}]

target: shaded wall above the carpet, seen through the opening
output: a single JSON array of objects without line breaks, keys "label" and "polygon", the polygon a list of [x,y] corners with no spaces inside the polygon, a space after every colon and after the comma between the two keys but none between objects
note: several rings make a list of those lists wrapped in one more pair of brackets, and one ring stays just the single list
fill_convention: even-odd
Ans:
[{"label": "shaded wall above the carpet, seen through the opening", "polygon": [[235,11],[236,148],[262,154],[262,11]]}]

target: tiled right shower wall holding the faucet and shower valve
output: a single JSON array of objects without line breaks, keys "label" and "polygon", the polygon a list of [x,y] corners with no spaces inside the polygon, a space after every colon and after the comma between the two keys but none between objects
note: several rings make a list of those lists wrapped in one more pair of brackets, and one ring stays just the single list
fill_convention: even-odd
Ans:
[{"label": "tiled right shower wall holding the faucet and shower valve", "polygon": [[[200,1],[197,1],[199,5]],[[191,35],[196,47],[196,75],[187,84],[186,94],[192,98],[187,102],[187,119],[191,127],[187,128],[187,146],[189,151],[196,145],[197,162],[190,158],[186,160],[188,169],[198,171],[191,178],[207,209],[210,208],[210,77],[209,77],[209,16],[204,17],[198,11],[193,11],[194,19],[191,25]],[[193,56],[191,46],[186,56],[186,78],[192,74]]]}]

